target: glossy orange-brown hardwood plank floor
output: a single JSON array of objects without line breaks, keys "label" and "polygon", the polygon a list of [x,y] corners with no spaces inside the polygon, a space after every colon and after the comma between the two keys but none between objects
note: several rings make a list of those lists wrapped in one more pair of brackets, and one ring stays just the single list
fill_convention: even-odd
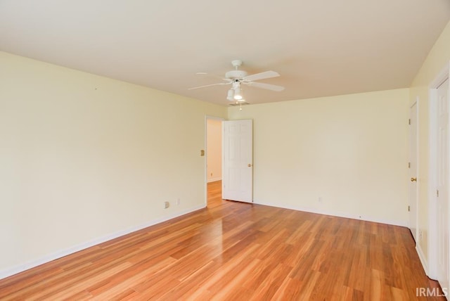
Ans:
[{"label": "glossy orange-brown hardwood plank floor", "polygon": [[441,300],[409,229],[221,200],[0,281],[0,300]]}]

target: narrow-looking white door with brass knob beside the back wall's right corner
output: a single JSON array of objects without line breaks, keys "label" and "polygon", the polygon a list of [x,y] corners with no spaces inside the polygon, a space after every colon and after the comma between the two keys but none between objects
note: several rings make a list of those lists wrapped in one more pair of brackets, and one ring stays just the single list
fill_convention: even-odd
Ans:
[{"label": "narrow-looking white door with brass knob beside the back wall's right corner", "polygon": [[417,243],[417,102],[409,110],[409,229]]}]

